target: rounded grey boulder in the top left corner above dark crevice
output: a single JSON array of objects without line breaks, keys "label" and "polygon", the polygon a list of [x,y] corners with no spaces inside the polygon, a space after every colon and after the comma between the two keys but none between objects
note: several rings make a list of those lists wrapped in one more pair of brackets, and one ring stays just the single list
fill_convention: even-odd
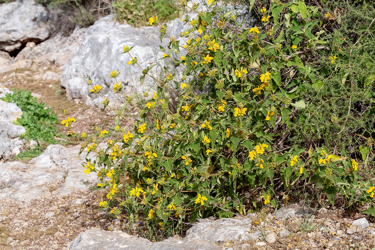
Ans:
[{"label": "rounded grey boulder in the top left corner above dark crevice", "polygon": [[0,50],[12,52],[27,42],[46,40],[48,12],[34,0],[0,4]]}]

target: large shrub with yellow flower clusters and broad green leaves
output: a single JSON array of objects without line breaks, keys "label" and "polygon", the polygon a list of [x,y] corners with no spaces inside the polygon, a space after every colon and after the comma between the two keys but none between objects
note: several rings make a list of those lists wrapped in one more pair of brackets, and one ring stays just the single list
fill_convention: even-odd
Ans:
[{"label": "large shrub with yellow flower clusters and broad green leaves", "polygon": [[[181,20],[189,24],[181,40],[169,36],[157,16],[149,18],[149,25],[160,28],[160,39],[170,40],[161,60],[171,58],[183,73],[156,77],[149,73],[152,66],[142,69],[140,83],[151,77],[158,87],[152,96],[144,93],[145,100],[125,96],[124,105],[113,110],[115,139],[108,140],[108,131],[98,127],[90,137],[69,131],[82,141],[80,153],[96,153],[83,166],[98,174],[98,188],[108,190],[101,209],[115,215],[127,211],[171,229],[198,217],[232,217],[268,204],[276,208],[283,195],[308,183],[332,205],[339,195],[350,208],[372,204],[373,184],[359,175],[355,158],[324,146],[314,150],[312,144],[280,149],[293,116],[306,110],[303,84],[318,84],[318,69],[301,59],[311,56],[310,48],[327,49],[320,46],[326,44],[321,32],[311,32],[323,24],[318,7],[265,1],[252,6],[259,24],[245,27],[235,11],[222,13],[214,0],[208,4],[204,12],[181,0]],[[184,10],[195,17],[183,16]],[[141,67],[131,50],[123,48],[132,58],[128,64]],[[109,77],[121,94],[118,73]],[[87,84],[101,95],[101,86],[91,79]],[[108,102],[103,98],[103,108]],[[71,128],[74,118],[63,113],[64,126]],[[125,129],[120,117],[132,129]]]}]

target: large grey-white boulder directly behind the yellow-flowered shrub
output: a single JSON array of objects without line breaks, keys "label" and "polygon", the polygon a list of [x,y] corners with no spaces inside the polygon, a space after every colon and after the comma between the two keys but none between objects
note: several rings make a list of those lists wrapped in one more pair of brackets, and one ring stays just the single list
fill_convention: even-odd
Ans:
[{"label": "large grey-white boulder directly behind the yellow-flowered shrub", "polygon": [[[167,25],[168,34],[178,38],[183,28],[179,19],[168,22]],[[155,88],[157,84],[147,76],[144,84],[140,87],[139,77],[142,74],[142,69],[127,64],[131,60],[127,53],[119,54],[123,52],[124,46],[129,46],[129,48],[135,46],[130,54],[137,57],[138,64],[142,68],[150,66],[150,63],[160,64],[150,70],[150,72],[154,72],[151,73],[152,75],[157,76],[162,72],[164,66],[162,65],[163,61],[159,61],[159,58],[162,58],[164,54],[159,48],[159,37],[159,27],[134,28],[128,24],[113,21],[112,15],[106,16],[89,27],[81,46],[69,59],[69,64],[63,68],[61,86],[66,89],[69,99],[80,98],[91,106],[100,105],[102,98],[95,94],[90,95],[90,87],[87,87],[86,84],[89,76],[93,85],[98,84],[104,87],[101,90],[101,95],[110,99],[110,105],[115,105],[118,99],[117,93],[114,93],[113,87],[110,87],[115,84],[114,79],[108,79],[113,70],[121,72],[118,81],[123,82],[122,91],[124,94],[142,93],[142,90]],[[168,42],[168,37],[165,37],[163,46],[167,50]]]}]

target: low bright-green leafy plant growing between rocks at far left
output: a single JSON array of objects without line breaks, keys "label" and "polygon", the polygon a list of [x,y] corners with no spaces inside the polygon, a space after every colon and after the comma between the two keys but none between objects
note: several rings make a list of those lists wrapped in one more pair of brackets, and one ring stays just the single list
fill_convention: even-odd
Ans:
[{"label": "low bright-green leafy plant growing between rocks at far left", "polygon": [[45,103],[38,103],[36,97],[31,96],[31,92],[28,90],[13,89],[13,92],[13,94],[6,94],[1,99],[17,104],[23,112],[21,118],[14,121],[15,124],[26,129],[20,138],[38,142],[35,148],[21,152],[16,156],[16,159],[30,159],[39,156],[48,145],[60,142],[55,137],[65,138],[65,135],[58,132],[57,115],[46,107]]}]

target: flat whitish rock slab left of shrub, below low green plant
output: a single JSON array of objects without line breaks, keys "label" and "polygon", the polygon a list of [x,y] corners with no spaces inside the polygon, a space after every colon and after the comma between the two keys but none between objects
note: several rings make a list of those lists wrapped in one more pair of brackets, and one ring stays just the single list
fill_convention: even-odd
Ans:
[{"label": "flat whitish rock slab left of shrub, below low green plant", "polygon": [[[1,122],[1,121],[0,121]],[[40,156],[25,164],[22,162],[0,163],[0,182],[9,184],[0,189],[0,199],[7,196],[16,201],[28,202],[45,195],[68,195],[74,190],[86,190],[89,183],[95,183],[96,174],[84,174],[78,158],[80,145],[65,148],[49,145]],[[50,187],[62,182],[51,192]]]}]

